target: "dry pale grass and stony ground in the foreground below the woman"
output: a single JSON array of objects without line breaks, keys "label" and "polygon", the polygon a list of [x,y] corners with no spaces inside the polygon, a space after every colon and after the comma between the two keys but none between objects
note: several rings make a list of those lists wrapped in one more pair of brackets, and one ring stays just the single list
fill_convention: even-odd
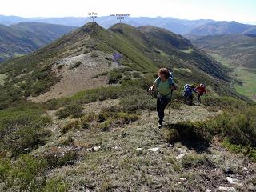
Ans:
[{"label": "dry pale grass and stony ground in the foreground below the woman", "polygon": [[[116,103],[118,101],[109,100],[82,107],[86,114],[92,111],[92,107],[94,113],[98,114],[102,108],[110,109]],[[58,120],[54,111],[49,114],[54,117],[55,127],[57,126],[54,137],[33,154],[49,153],[56,150],[56,146],[60,151],[78,151],[79,160],[73,166],[60,166],[50,172],[50,178],[64,178],[71,183],[71,191],[84,188],[93,191],[205,191],[208,188],[215,190],[218,186],[228,186],[223,172],[226,166],[231,166],[244,182],[250,183],[255,174],[254,169],[250,169],[249,173],[242,171],[244,166],[254,167],[253,163],[239,155],[230,154],[218,142],[205,150],[200,145],[190,146],[186,142],[170,146],[166,141],[166,133],[170,127],[156,129],[156,112],[148,116],[146,111],[140,111],[141,119],[138,122],[122,127],[112,126],[110,131],[102,132],[92,123],[89,130],[72,129],[64,135],[59,131],[66,121]],[[170,117],[166,111],[166,122],[200,121],[216,114],[218,112],[208,112],[202,106],[181,106],[177,110],[171,109]],[[126,136],[123,136],[124,133]],[[68,138],[73,138],[73,141],[66,143]],[[94,152],[84,150],[94,146],[101,148]],[[154,147],[159,147],[160,151],[147,151]],[[137,148],[141,150],[136,150]],[[184,153],[184,150],[185,158],[177,160],[176,157]],[[186,178],[186,181],[181,181],[180,178]]]}]

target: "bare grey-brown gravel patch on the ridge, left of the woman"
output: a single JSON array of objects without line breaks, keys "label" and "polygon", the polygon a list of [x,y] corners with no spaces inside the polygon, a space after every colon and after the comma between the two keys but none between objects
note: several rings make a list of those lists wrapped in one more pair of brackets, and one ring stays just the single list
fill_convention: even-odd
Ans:
[{"label": "bare grey-brown gravel patch on the ridge, left of the woman", "polygon": [[[60,82],[50,87],[50,90],[46,93],[38,97],[31,97],[30,100],[46,102],[51,98],[70,96],[79,90],[107,86],[108,78],[106,76],[99,76],[98,78],[95,78],[95,76],[114,68],[122,67],[116,62],[110,62],[111,59],[112,55],[110,54],[94,51],[89,54],[80,54],[60,60],[52,69],[54,74],[62,77]],[[75,66],[78,62],[78,66]],[[72,66],[75,67],[73,68]]]}]

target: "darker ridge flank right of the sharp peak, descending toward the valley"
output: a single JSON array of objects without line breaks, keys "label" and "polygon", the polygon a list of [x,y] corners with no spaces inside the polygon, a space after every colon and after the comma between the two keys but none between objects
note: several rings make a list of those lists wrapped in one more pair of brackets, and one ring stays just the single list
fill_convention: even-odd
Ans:
[{"label": "darker ridge flank right of the sharp peak, descending toward the valley", "polygon": [[[186,70],[175,71],[179,86],[183,86],[187,82],[205,82],[213,87],[218,94],[231,94],[238,98],[244,98],[228,87],[226,82],[229,82],[230,79],[226,76],[226,69],[194,47],[186,38],[152,26],[142,26],[136,29],[118,24],[110,27],[110,30],[133,43],[158,67],[190,69],[191,73]],[[186,53],[188,50],[190,50],[189,53]]]}]

